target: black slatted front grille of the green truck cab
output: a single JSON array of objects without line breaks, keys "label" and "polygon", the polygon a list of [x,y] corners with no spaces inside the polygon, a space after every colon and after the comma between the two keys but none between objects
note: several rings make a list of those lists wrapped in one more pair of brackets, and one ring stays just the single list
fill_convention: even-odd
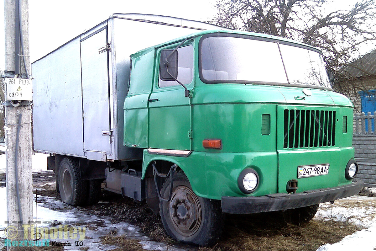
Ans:
[{"label": "black slatted front grille of the green truck cab", "polygon": [[335,145],[335,111],[284,110],[284,148]]}]

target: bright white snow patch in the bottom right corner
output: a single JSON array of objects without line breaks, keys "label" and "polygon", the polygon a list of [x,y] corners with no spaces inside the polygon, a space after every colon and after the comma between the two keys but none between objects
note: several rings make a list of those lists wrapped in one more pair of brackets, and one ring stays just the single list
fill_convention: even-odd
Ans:
[{"label": "bright white snow patch in the bottom right corner", "polygon": [[325,244],[316,251],[374,251],[376,247],[376,227],[357,231],[344,237],[340,242]]}]

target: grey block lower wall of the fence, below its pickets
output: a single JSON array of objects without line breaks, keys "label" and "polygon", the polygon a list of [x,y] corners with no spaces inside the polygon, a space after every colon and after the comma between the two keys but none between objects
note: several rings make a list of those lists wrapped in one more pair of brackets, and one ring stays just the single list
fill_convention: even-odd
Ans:
[{"label": "grey block lower wall of the fence, below its pickets", "polygon": [[353,147],[359,164],[355,180],[376,186],[376,135],[354,135]]}]

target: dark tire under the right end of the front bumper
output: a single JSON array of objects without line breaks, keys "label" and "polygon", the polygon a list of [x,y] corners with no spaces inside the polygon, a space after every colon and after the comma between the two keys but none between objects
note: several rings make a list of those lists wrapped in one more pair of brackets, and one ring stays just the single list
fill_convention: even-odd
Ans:
[{"label": "dark tire under the right end of the front bumper", "polygon": [[296,224],[304,225],[313,219],[317,213],[317,208],[320,204],[311,205],[308,207],[300,207],[289,209],[283,212],[285,220]]}]

